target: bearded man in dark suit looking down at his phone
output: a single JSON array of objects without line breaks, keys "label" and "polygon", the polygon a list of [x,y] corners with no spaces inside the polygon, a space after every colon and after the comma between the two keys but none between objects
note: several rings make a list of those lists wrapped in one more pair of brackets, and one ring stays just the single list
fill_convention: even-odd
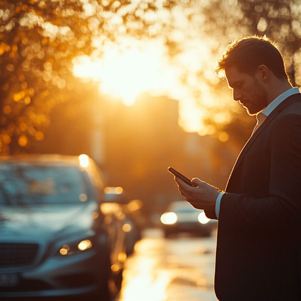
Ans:
[{"label": "bearded man in dark suit looking down at his phone", "polygon": [[219,300],[301,300],[301,96],[266,37],[228,45],[216,73],[226,77],[257,124],[225,189],[175,177],[180,193],[218,219],[214,289]]}]

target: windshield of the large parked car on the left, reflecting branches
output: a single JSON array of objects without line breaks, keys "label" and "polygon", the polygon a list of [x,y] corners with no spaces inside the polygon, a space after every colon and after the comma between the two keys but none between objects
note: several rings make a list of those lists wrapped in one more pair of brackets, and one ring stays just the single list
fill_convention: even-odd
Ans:
[{"label": "windshield of the large parked car on the left, reflecting branches", "polygon": [[85,202],[87,178],[77,166],[0,164],[0,205]]}]

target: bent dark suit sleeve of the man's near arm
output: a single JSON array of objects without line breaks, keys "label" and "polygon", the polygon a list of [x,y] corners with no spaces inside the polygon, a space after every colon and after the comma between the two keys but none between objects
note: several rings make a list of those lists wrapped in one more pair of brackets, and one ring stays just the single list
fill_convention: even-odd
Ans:
[{"label": "bent dark suit sleeve of the man's near arm", "polygon": [[[219,221],[300,227],[301,216],[301,115],[279,117],[271,137],[269,196],[225,193]],[[260,172],[260,171],[259,171]]]}]

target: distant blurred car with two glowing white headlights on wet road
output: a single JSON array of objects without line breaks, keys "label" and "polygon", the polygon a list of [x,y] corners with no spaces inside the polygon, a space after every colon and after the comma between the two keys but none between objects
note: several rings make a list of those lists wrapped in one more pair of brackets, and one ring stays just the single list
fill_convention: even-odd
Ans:
[{"label": "distant blurred car with two glowing white headlights on wet road", "polygon": [[189,232],[199,236],[210,236],[215,220],[208,219],[203,210],[195,209],[187,201],[172,202],[168,211],[161,215],[165,237],[180,232]]}]

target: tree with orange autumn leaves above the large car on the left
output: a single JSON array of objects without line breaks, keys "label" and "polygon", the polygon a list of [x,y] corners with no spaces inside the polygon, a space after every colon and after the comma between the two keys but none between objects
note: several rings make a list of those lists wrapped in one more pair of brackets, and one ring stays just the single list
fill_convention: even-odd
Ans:
[{"label": "tree with orange autumn leaves above the large car on the left", "polygon": [[73,93],[72,59],[101,47],[95,37],[141,36],[154,22],[140,16],[158,9],[130,0],[0,0],[0,7],[1,154],[43,139],[51,109]]}]

